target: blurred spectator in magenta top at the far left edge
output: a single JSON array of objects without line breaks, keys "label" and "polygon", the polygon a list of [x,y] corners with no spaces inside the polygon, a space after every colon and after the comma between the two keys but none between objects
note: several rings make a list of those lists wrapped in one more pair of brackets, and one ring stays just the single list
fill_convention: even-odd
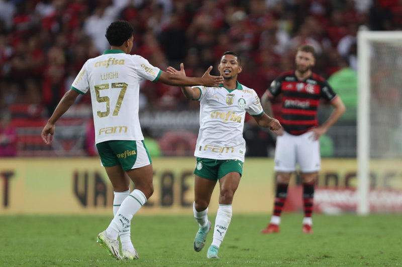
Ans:
[{"label": "blurred spectator in magenta top at the far left edge", "polygon": [[17,131],[10,121],[11,114],[0,111],[0,157],[17,156]]}]

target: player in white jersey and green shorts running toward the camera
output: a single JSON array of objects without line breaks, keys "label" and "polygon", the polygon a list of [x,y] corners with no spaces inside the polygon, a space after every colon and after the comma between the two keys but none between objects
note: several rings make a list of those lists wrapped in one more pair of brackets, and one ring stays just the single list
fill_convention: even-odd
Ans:
[{"label": "player in white jersey and green shorts running toward the camera", "polygon": [[[193,242],[195,251],[200,251],[205,245],[211,229],[208,205],[218,180],[220,185],[219,208],[213,227],[214,238],[207,251],[208,258],[219,258],[218,249],[232,219],[232,200],[240,182],[246,152],[243,138],[246,112],[258,125],[270,130],[280,129],[278,120],[262,110],[255,91],[237,81],[242,67],[236,53],[225,52],[218,69],[225,79],[219,86],[181,88],[187,99],[200,102],[199,133],[194,152],[197,162],[193,212],[199,225]],[[169,67],[167,72],[185,76],[182,64],[180,71]]]}]

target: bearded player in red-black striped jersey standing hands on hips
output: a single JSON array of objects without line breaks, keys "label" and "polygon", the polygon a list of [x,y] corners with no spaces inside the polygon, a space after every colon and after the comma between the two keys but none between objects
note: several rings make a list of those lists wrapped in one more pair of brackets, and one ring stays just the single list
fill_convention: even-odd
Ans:
[{"label": "bearded player in red-black striped jersey standing hands on hips", "polygon": [[[271,221],[262,233],[279,232],[280,213],[287,197],[287,186],[291,174],[299,165],[303,179],[303,205],[305,216],[302,230],[313,233],[312,212],[314,184],[321,167],[319,137],[346,111],[345,105],[328,82],[312,72],[315,50],[310,45],[297,48],[296,70],[282,73],[267,89],[261,104],[268,115],[272,115],[270,100],[283,94],[282,124],[277,131],[275,148],[276,194]],[[335,110],[323,125],[318,125],[317,109],[320,98],[331,102]]]}]

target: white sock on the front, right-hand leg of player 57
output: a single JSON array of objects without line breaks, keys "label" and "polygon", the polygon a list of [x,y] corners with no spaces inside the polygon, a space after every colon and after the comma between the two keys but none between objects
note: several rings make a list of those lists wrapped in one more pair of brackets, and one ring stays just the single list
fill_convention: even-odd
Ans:
[{"label": "white sock on the front, right-hand leg of player 57", "polygon": [[[138,189],[134,189],[120,205],[115,217],[108,226],[108,229],[114,229],[118,233],[127,232],[127,225],[131,225],[131,219],[134,214],[147,202],[147,198],[144,193]],[[107,229],[107,232],[108,232]],[[130,227],[128,228],[130,229]],[[109,235],[109,234],[108,234]],[[112,238],[112,236],[109,236]],[[117,238],[114,238],[117,239]],[[124,240],[120,239],[122,242]]]}]

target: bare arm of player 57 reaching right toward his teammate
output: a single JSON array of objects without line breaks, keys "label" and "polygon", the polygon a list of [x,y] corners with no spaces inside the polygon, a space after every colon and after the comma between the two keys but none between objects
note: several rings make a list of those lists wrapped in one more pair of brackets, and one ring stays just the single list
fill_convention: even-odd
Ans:
[{"label": "bare arm of player 57 reaching right toward his teammate", "polygon": [[178,74],[171,74],[162,71],[158,82],[162,82],[167,85],[176,85],[176,86],[194,86],[194,85],[203,85],[203,86],[218,86],[223,83],[222,76],[211,76],[210,72],[212,70],[212,66],[208,68],[206,73],[201,78],[195,77],[186,77]]}]

